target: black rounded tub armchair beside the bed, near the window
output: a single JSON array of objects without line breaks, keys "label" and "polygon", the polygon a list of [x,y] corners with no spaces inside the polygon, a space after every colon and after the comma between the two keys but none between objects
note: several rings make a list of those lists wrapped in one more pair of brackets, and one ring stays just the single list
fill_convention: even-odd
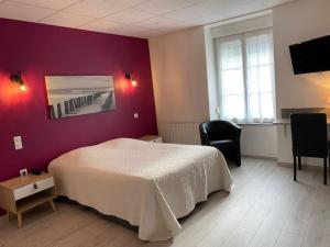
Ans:
[{"label": "black rounded tub armchair beside the bed, near the window", "polygon": [[226,158],[241,166],[241,127],[237,124],[218,120],[199,125],[201,145],[213,146],[221,150]]}]

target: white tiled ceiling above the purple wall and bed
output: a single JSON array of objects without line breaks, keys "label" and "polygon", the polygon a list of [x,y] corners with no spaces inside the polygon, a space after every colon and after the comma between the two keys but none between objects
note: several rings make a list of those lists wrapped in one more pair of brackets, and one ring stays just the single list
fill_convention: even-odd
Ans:
[{"label": "white tiled ceiling above the purple wall and bed", "polygon": [[152,37],[294,0],[0,0],[0,18]]}]

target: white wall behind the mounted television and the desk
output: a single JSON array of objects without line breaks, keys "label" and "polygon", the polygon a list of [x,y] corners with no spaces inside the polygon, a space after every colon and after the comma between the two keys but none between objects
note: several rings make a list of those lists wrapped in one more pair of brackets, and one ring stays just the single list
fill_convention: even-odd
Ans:
[{"label": "white wall behind the mounted television and the desk", "polygon": [[[276,102],[279,115],[283,108],[322,108],[330,97],[330,74],[295,76],[288,46],[330,34],[330,1],[300,0],[273,10],[276,67]],[[278,161],[293,162],[289,126],[279,126]],[[318,165],[315,159],[302,162]]]}]

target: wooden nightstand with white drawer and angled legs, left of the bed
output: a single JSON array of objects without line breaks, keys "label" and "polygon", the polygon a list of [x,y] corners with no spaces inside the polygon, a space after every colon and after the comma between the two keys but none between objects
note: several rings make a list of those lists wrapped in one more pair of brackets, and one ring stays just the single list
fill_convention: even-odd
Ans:
[{"label": "wooden nightstand with white drawer and angled legs, left of the bed", "polygon": [[18,215],[19,227],[22,227],[22,214],[37,205],[48,202],[56,211],[54,179],[51,173],[28,175],[0,183],[0,207],[10,214]]}]

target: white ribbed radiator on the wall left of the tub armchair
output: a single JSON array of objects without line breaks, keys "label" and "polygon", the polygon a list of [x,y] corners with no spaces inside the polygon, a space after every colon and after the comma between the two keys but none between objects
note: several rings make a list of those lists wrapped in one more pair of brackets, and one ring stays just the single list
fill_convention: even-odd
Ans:
[{"label": "white ribbed radiator on the wall left of the tub armchair", "polygon": [[195,122],[161,122],[158,132],[164,143],[199,145],[198,126]]}]

